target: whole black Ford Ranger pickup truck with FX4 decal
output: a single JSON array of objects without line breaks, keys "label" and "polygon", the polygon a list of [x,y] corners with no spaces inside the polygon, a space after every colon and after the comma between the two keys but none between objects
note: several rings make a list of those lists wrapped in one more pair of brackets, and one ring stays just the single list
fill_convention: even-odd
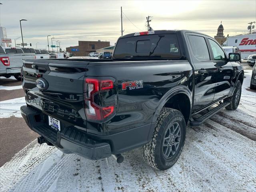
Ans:
[{"label": "whole black Ford Ranger pickup truck with FX4 decal", "polygon": [[166,170],[182,152],[187,124],[238,107],[239,60],[198,32],[132,33],[118,39],[112,59],[24,61],[21,113],[40,144],[117,162],[143,146],[145,161]]}]

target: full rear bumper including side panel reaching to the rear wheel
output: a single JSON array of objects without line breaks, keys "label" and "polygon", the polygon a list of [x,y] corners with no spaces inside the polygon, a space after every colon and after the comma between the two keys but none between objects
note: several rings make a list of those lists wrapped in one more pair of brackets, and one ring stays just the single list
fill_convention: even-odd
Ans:
[{"label": "full rear bumper including side panel reaching to the rear wheel", "polygon": [[96,135],[67,126],[56,131],[48,125],[48,117],[31,106],[20,108],[22,117],[33,131],[43,136],[64,153],[74,153],[90,160],[98,160],[138,148],[148,143],[155,124],[147,124],[111,135]]}]

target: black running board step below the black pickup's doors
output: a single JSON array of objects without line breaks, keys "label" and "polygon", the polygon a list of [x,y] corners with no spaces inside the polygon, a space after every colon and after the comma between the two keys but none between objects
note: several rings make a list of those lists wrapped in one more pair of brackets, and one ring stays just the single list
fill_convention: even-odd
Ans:
[{"label": "black running board step below the black pickup's doors", "polygon": [[194,119],[194,121],[190,122],[190,126],[200,126],[204,121],[206,121],[208,118],[213,116],[214,114],[218,113],[220,110],[222,110],[224,107],[228,106],[230,102],[223,102],[210,110],[208,113],[200,116],[198,119]]}]

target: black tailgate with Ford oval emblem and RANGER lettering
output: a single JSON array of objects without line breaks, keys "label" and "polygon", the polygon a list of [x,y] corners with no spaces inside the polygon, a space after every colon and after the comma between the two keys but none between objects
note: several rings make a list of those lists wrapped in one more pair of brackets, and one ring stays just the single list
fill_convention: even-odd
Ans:
[{"label": "black tailgate with Ford oval emblem and RANGER lettering", "polygon": [[[52,62],[52,63],[49,63]],[[86,126],[83,84],[86,64],[57,60],[28,60],[22,67],[22,86],[28,105],[65,126]],[[86,63],[86,62],[84,62]],[[36,85],[37,84],[37,85]]]}]

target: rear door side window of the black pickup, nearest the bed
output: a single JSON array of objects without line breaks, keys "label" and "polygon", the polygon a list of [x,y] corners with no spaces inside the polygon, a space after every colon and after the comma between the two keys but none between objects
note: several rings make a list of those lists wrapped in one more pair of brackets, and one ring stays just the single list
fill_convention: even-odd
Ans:
[{"label": "rear door side window of the black pickup, nearest the bed", "polygon": [[189,35],[188,38],[190,40],[194,56],[200,61],[210,60],[209,51],[204,37]]}]

